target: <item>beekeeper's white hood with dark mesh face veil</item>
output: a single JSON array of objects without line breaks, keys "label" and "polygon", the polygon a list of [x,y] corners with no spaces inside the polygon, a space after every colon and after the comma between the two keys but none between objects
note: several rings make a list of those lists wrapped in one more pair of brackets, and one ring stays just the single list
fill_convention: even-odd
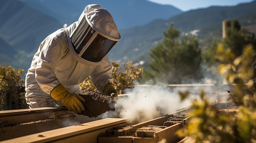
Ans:
[{"label": "beekeeper's white hood with dark mesh face veil", "polygon": [[115,46],[120,35],[112,15],[98,4],[90,4],[70,38],[71,51],[79,62],[97,63]]}]

